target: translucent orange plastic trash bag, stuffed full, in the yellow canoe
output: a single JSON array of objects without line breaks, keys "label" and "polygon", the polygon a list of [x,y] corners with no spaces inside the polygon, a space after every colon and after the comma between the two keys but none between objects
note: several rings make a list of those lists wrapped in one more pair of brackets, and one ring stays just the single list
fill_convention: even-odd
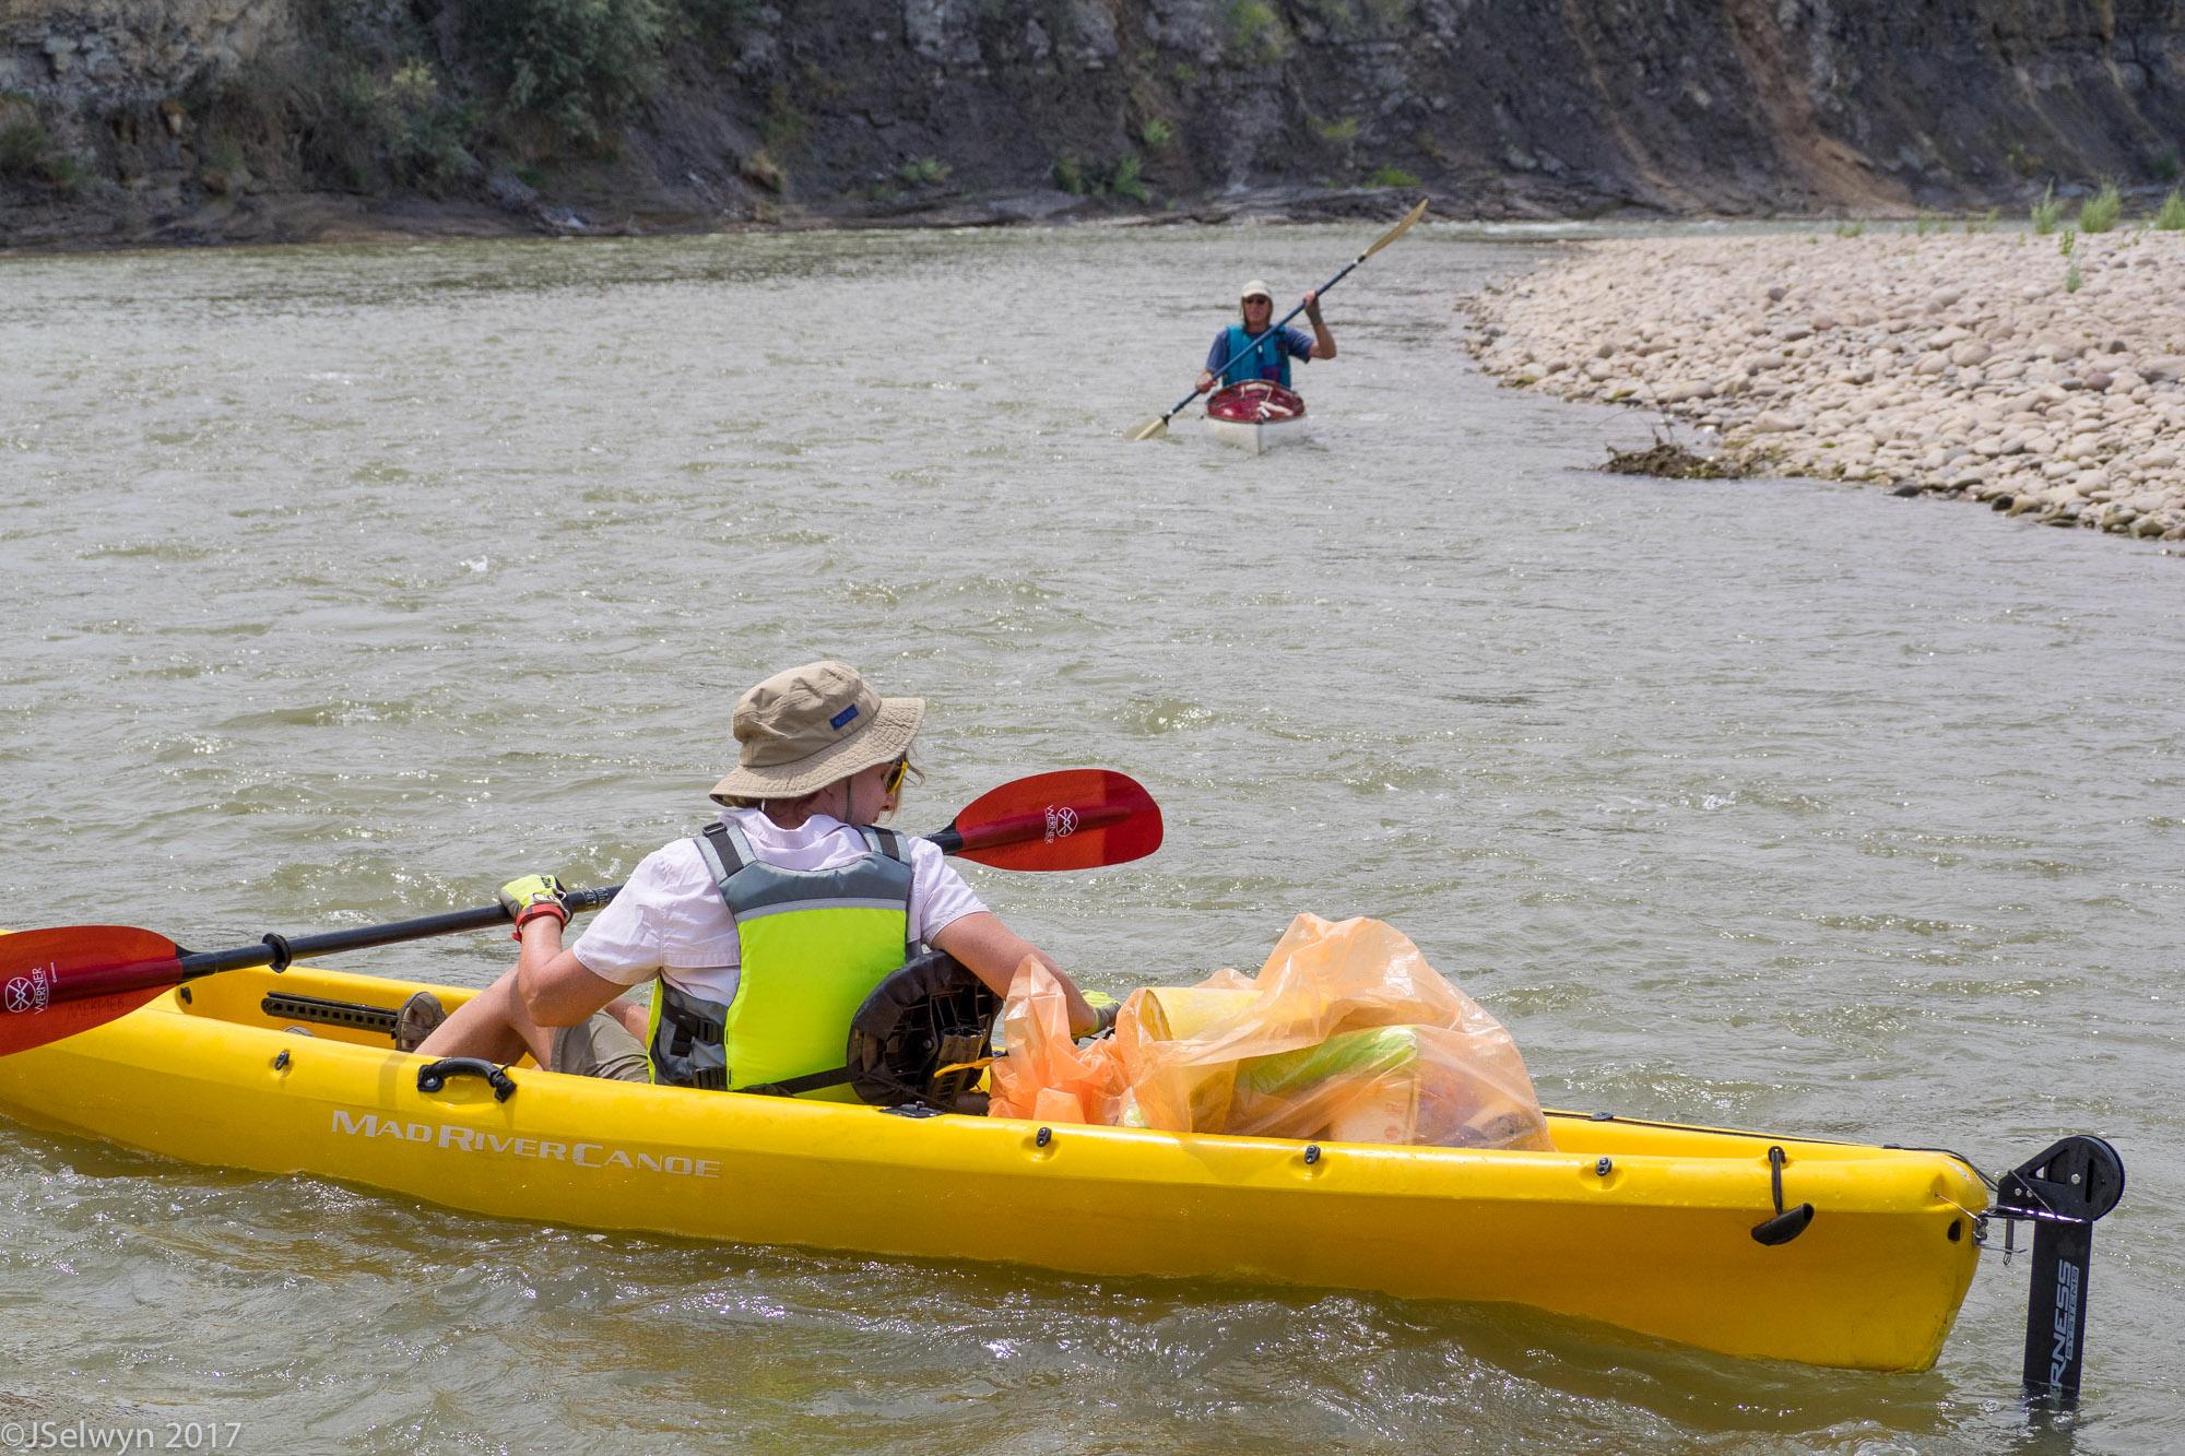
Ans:
[{"label": "translucent orange plastic trash bag, stuffed full, in the yellow canoe", "polygon": [[1353,1143],[1547,1150],[1525,1058],[1381,920],[1298,916],[1256,977],[1130,993],[1079,1047],[1025,962],[1003,1008],[996,1117]]}]

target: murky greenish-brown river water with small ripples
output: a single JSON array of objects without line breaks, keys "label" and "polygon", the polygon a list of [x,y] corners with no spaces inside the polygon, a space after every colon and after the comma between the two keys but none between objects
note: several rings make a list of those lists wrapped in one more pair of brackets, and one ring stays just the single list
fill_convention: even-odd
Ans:
[{"label": "murky greenish-brown river water with small ripples", "polygon": [[[1090,986],[1374,914],[1549,1104],[1988,1172],[2111,1137],[2074,1423],[2015,1406],[1999,1255],[1936,1371],[1851,1375],[597,1237],[13,1124],[0,1417],[262,1452],[2185,1445],[2185,562],[1597,474],[1641,415],[1460,350],[1455,300],[1540,260],[1519,234],[1420,227],[1331,293],[1313,444],[1123,444],[1241,278],[1294,295],[1372,234],[0,262],[7,918],[210,949],[612,883],[701,822],[745,684],[841,656],[933,704],[911,829],[1082,763],[1162,802],[1141,864],[972,870]],[[505,949],[347,966],[483,984]]]}]

